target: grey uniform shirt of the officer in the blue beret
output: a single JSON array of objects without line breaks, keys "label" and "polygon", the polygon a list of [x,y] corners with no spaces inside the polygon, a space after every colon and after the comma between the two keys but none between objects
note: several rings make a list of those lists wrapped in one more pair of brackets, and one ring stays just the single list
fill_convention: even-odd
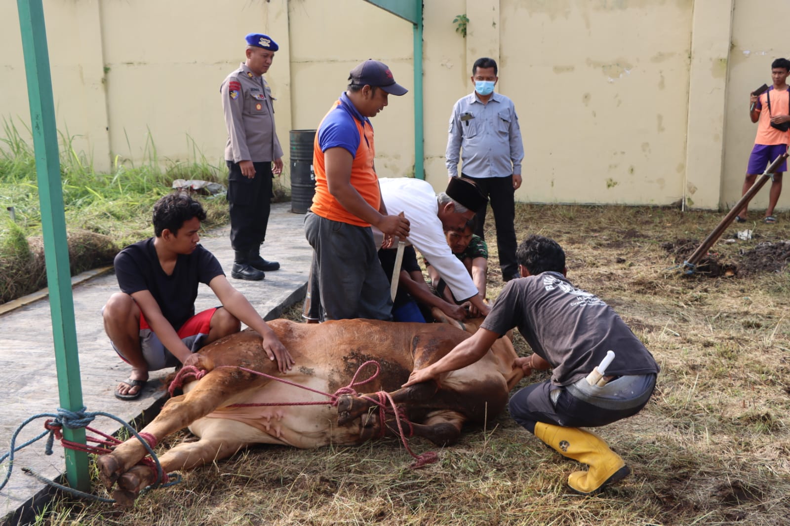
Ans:
[{"label": "grey uniform shirt of the officer in the blue beret", "polygon": [[220,87],[228,143],[225,160],[273,161],[283,156],[274,130],[272,90],[242,62]]}]

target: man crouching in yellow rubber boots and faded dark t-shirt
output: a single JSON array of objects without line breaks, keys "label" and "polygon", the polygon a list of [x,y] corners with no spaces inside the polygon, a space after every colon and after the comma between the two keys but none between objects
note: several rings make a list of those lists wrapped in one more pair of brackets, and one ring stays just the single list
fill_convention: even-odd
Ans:
[{"label": "man crouching in yellow rubber boots and faded dark t-shirt", "polygon": [[[534,354],[517,358],[524,374],[551,367],[551,379],[521,389],[510,399],[517,423],[559,454],[589,464],[568,477],[570,488],[591,494],[623,479],[630,470],[598,435],[596,427],[635,415],[656,385],[658,364],[625,322],[606,303],[566,279],[565,253],[557,242],[531,235],[518,247],[521,279],[502,289],[480,329],[437,363],[415,370],[404,384],[437,380],[483,357],[513,327]],[[606,385],[590,385],[587,375],[607,354]]]}]

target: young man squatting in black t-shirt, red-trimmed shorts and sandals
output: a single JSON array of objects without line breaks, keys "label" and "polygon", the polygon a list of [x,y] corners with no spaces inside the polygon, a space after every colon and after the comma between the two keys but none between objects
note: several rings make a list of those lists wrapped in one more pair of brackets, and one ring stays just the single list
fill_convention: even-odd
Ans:
[{"label": "young man squatting in black t-shirt, red-trimmed shorts and sandals", "polygon": [[[220,262],[198,245],[205,211],[185,193],[171,193],[153,207],[155,237],[127,246],[115,257],[120,292],[102,310],[104,330],[119,356],[132,366],[115,389],[134,400],[149,370],[196,365],[201,347],[238,333],[243,321],[263,336],[261,348],[280,371],[294,360],[244,295],[225,277]],[[198,284],[211,287],[221,307],[195,314]]]}]

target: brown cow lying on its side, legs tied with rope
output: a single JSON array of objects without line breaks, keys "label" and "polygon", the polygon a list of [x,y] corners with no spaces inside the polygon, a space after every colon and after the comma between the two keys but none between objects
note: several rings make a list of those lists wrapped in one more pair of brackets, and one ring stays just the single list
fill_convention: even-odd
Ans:
[{"label": "brown cow lying on its side, legs tied with rope", "polygon": [[[466,325],[474,333],[482,318]],[[482,424],[505,408],[508,393],[521,380],[521,367],[513,367],[516,353],[507,338],[498,340],[479,362],[453,371],[434,382],[401,389],[413,369],[442,358],[469,333],[444,323],[391,323],[371,320],[327,321],[299,324],[287,320],[269,322],[277,337],[296,361],[288,374],[261,351],[260,336],[244,331],[209,344],[199,351],[200,367],[208,370],[199,381],[184,386],[184,393],[164,404],[160,415],[141,433],[161,441],[189,426],[199,441],[176,445],[160,455],[164,472],[190,469],[226,458],[251,444],[282,444],[298,448],[322,445],[359,445],[363,441],[397,432],[394,416],[381,422],[374,403],[363,395],[342,395],[337,407],[321,394],[261,377],[236,367],[287,378],[295,384],[335,393],[349,385],[359,366],[375,360],[381,372],[358,387],[367,393],[391,393],[414,434],[437,445],[453,444],[465,422]],[[370,378],[367,366],[357,381]],[[369,394],[378,400],[378,396]],[[327,401],[320,405],[228,407],[263,402]],[[118,445],[113,453],[97,460],[108,490],[117,482],[113,496],[132,505],[140,490],[156,482],[156,471],[137,464],[146,455],[136,438]]]}]

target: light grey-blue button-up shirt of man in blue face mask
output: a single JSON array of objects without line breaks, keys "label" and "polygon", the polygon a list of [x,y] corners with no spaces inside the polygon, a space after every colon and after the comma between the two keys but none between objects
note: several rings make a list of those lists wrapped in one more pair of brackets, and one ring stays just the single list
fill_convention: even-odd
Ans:
[{"label": "light grey-blue button-up shirt of man in blue face mask", "polygon": [[521,174],[524,145],[513,101],[497,92],[486,104],[475,92],[458,100],[450,115],[445,157],[450,177],[458,175],[459,157],[469,177]]}]

